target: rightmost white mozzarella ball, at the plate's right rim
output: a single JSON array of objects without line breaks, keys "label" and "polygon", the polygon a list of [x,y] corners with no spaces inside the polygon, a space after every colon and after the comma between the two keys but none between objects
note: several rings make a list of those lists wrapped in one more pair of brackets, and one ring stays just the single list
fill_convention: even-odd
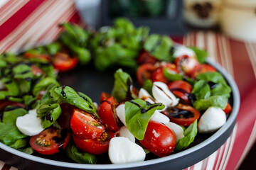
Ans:
[{"label": "rightmost white mozzarella ball, at the plate's right rim", "polygon": [[221,108],[210,107],[198,122],[198,132],[215,132],[225,124],[226,119],[225,112]]}]

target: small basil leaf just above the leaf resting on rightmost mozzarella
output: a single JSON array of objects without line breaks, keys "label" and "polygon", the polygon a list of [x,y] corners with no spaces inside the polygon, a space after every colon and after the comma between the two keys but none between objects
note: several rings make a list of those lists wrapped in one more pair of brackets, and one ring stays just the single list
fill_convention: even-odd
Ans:
[{"label": "small basil leaf just above the leaf resting on rightmost mozzarella", "polygon": [[193,86],[193,91],[191,92],[196,96],[197,100],[210,97],[210,86],[204,80],[199,80]]}]

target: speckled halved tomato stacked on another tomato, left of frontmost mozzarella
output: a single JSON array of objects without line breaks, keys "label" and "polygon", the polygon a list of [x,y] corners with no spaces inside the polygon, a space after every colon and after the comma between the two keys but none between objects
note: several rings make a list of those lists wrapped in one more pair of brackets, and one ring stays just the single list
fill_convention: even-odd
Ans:
[{"label": "speckled halved tomato stacked on another tomato, left of frontmost mozzarella", "polygon": [[92,113],[75,108],[70,119],[70,128],[75,135],[82,139],[95,139],[102,135],[106,127],[102,120]]}]

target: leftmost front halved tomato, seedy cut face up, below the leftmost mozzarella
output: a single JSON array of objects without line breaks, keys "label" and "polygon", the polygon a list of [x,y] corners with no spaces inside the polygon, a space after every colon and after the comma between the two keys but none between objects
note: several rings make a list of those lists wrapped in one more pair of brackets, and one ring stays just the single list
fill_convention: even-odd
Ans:
[{"label": "leftmost front halved tomato, seedy cut face up, below the leftmost mozzarella", "polygon": [[55,154],[68,145],[70,136],[68,131],[48,128],[31,137],[30,145],[39,154]]}]

